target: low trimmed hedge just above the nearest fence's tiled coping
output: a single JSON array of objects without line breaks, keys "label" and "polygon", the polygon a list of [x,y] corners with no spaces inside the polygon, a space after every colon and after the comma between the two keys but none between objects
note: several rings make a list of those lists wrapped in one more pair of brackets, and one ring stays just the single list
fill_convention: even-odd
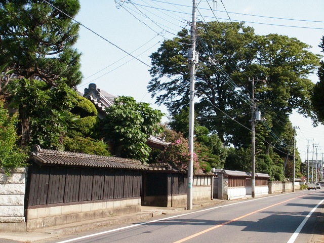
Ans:
[{"label": "low trimmed hedge just above the nearest fence's tiled coping", "polygon": [[65,151],[110,156],[108,145],[102,140],[83,137],[65,137],[63,139]]}]

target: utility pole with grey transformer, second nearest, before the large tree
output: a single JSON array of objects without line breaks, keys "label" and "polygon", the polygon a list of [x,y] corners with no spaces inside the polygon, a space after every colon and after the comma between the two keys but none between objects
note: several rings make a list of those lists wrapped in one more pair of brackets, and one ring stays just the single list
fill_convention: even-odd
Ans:
[{"label": "utility pole with grey transformer, second nearest, before the large tree", "polygon": [[254,101],[254,78],[250,80],[252,83],[252,105],[251,105],[251,131],[252,131],[252,186],[251,186],[251,196],[255,197],[255,101]]}]

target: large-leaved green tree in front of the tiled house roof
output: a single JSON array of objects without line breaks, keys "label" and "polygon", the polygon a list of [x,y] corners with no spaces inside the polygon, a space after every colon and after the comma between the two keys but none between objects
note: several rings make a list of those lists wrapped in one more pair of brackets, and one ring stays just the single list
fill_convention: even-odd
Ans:
[{"label": "large-leaved green tree in front of the tiled house roof", "polygon": [[162,131],[159,125],[163,113],[148,103],[137,103],[132,97],[117,97],[106,109],[104,135],[113,144],[112,152],[121,157],[146,162],[151,149],[146,144],[150,135]]}]

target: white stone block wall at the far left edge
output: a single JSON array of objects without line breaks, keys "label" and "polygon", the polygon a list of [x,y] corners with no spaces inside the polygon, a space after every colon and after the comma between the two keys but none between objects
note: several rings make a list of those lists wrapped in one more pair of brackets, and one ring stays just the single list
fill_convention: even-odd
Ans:
[{"label": "white stone block wall at the far left edge", "polygon": [[0,169],[0,223],[25,222],[26,171],[27,168],[17,168],[7,176]]}]

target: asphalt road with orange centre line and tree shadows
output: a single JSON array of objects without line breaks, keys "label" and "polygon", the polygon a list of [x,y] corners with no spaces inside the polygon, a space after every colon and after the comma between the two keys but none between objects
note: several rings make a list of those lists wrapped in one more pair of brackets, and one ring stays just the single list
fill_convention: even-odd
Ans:
[{"label": "asphalt road with orange centre line and tree shadows", "polygon": [[95,229],[47,242],[305,243],[311,242],[311,234],[319,227],[316,215],[324,207],[323,201],[324,190],[270,195]]}]

